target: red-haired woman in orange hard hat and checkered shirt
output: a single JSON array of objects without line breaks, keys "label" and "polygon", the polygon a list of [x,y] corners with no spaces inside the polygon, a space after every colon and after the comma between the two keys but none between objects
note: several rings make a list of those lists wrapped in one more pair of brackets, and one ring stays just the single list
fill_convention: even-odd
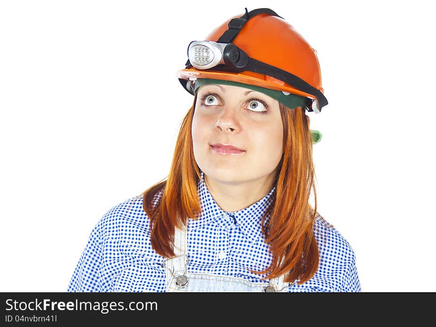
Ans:
[{"label": "red-haired woman in orange hard hat and checkered shirt", "polygon": [[352,248],[317,212],[321,134],[305,111],[327,99],[315,51],[262,8],[188,57],[177,75],[194,104],[167,179],[105,214],[68,291],[361,291]]}]

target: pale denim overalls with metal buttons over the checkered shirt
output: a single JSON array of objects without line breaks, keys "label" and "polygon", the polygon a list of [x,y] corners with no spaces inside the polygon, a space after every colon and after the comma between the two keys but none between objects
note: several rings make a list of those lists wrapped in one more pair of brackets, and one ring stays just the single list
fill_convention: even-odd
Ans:
[{"label": "pale denim overalls with metal buttons over the checkered shirt", "polygon": [[250,282],[244,278],[188,272],[186,254],[188,233],[186,226],[175,229],[175,257],[166,259],[166,292],[288,292],[290,283],[284,275],[268,282]]}]

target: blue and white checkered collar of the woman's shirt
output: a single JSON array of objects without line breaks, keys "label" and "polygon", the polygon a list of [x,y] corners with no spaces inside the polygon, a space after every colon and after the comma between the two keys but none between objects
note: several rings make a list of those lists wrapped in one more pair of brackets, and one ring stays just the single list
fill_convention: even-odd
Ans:
[{"label": "blue and white checkered collar of the woman's shirt", "polygon": [[[201,213],[197,219],[189,219],[188,230],[203,227],[211,223],[212,220],[216,220],[226,228],[231,224],[236,224],[251,242],[255,242],[262,235],[262,216],[272,202],[275,186],[256,203],[241,210],[228,212],[222,210],[217,202],[215,202],[206,186],[204,173],[200,172],[201,178],[198,182],[197,191],[201,202]],[[223,215],[230,216],[231,218],[225,219]],[[265,224],[268,223],[269,218],[270,215],[268,214],[265,218]]]}]

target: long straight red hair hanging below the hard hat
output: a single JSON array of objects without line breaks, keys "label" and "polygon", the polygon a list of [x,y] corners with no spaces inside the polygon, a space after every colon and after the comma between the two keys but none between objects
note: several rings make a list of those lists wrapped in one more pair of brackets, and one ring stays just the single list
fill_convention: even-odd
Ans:
[{"label": "long straight red hair hanging below the hard hat", "polygon": [[[144,191],[143,208],[150,219],[151,244],[161,256],[174,256],[174,227],[187,225],[200,214],[197,185],[200,169],[194,158],[191,125],[196,102],[184,117],[166,180]],[[287,274],[286,282],[309,280],[318,270],[319,252],[313,235],[317,215],[312,136],[305,109],[290,110],[279,103],[283,122],[283,154],[275,177],[273,201],[263,217],[263,233],[270,245],[272,262],[263,271],[266,278]],[[314,192],[315,207],[309,204]],[[156,195],[163,192],[156,203]],[[270,220],[265,227],[265,218]]]}]

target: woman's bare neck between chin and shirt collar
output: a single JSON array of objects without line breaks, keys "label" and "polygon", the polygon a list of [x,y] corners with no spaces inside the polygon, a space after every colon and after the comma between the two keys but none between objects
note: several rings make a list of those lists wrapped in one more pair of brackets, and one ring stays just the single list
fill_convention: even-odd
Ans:
[{"label": "woman's bare neck between chin and shirt collar", "polygon": [[274,174],[244,183],[223,183],[205,175],[206,186],[219,207],[227,212],[246,208],[270,193]]}]

